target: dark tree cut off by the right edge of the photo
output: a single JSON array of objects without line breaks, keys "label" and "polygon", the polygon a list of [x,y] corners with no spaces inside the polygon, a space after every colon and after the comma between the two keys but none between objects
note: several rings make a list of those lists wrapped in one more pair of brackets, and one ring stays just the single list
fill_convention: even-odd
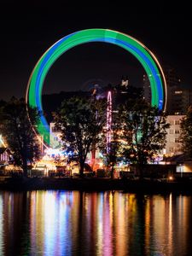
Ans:
[{"label": "dark tree cut off by the right edge of the photo", "polygon": [[192,157],[192,107],[188,108],[187,114],[182,119],[180,126],[183,153]]}]

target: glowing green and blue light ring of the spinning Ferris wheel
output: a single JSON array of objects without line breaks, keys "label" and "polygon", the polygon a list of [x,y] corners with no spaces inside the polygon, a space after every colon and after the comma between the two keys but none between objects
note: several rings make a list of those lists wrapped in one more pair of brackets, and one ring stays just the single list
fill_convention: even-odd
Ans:
[{"label": "glowing green and blue light ring of the spinning Ferris wheel", "polygon": [[[52,45],[39,59],[32,71],[26,90],[26,103],[31,107],[38,108],[43,113],[41,95],[44,79],[49,72],[49,68],[68,49],[72,49],[79,44],[91,42],[115,44],[134,55],[143,65],[148,75],[151,86],[152,106],[163,110],[166,109],[166,79],[156,57],[137,39],[108,29],[87,29],[74,32]],[[44,143],[49,144],[49,125],[43,114],[37,131],[41,136],[44,136]]]}]

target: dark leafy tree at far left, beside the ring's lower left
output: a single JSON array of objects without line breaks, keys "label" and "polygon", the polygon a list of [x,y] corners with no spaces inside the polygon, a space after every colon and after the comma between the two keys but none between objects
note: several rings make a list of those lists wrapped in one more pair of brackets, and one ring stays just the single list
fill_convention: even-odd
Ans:
[{"label": "dark leafy tree at far left, beside the ring's lower left", "polygon": [[[27,164],[39,159],[40,150],[32,125],[38,124],[36,108],[26,108],[24,99],[13,97],[0,111],[0,130],[13,153],[15,166],[23,169],[27,176]],[[30,120],[28,118],[30,116]]]}]

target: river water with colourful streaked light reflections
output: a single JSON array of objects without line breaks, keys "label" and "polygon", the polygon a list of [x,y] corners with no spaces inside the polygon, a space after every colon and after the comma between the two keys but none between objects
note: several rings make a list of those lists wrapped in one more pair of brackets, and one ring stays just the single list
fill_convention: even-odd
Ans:
[{"label": "river water with colourful streaked light reflections", "polygon": [[189,255],[192,195],[0,192],[0,255]]}]

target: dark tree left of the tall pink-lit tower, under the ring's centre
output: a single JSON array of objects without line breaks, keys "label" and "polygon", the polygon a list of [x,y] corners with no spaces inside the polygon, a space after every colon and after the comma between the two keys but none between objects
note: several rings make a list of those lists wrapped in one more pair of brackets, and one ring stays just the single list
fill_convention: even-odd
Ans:
[{"label": "dark tree left of the tall pink-lit tower, under the ring's centre", "polygon": [[[106,102],[95,98],[73,96],[62,102],[55,113],[55,127],[61,131],[63,148],[76,155],[80,177],[84,176],[84,162],[91,148],[101,141],[106,122]],[[73,157],[74,159],[74,157]]]}]

